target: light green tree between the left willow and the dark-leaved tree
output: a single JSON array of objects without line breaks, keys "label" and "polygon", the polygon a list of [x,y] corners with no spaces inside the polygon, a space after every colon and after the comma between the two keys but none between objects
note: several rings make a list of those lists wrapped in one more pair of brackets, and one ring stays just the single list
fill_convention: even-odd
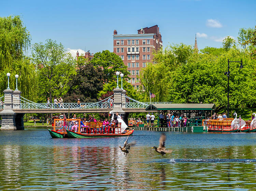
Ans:
[{"label": "light green tree between the left willow and the dark-leaved tree", "polygon": [[76,60],[63,45],[51,39],[47,39],[45,44],[35,43],[32,59],[38,71],[38,101],[45,102],[49,97],[52,102],[53,97],[65,95],[70,88],[68,82],[75,75]]}]

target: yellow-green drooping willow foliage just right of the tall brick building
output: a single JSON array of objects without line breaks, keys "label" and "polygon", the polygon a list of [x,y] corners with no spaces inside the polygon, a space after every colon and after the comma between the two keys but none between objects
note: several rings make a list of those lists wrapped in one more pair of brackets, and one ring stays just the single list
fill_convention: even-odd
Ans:
[{"label": "yellow-green drooping willow foliage just right of the tall brick building", "polygon": [[173,72],[185,65],[192,54],[193,48],[184,44],[170,45],[164,51],[155,52],[156,64],[149,63],[140,76],[145,88],[142,93],[144,101],[149,101],[149,92],[156,95],[154,101],[167,101]]}]

